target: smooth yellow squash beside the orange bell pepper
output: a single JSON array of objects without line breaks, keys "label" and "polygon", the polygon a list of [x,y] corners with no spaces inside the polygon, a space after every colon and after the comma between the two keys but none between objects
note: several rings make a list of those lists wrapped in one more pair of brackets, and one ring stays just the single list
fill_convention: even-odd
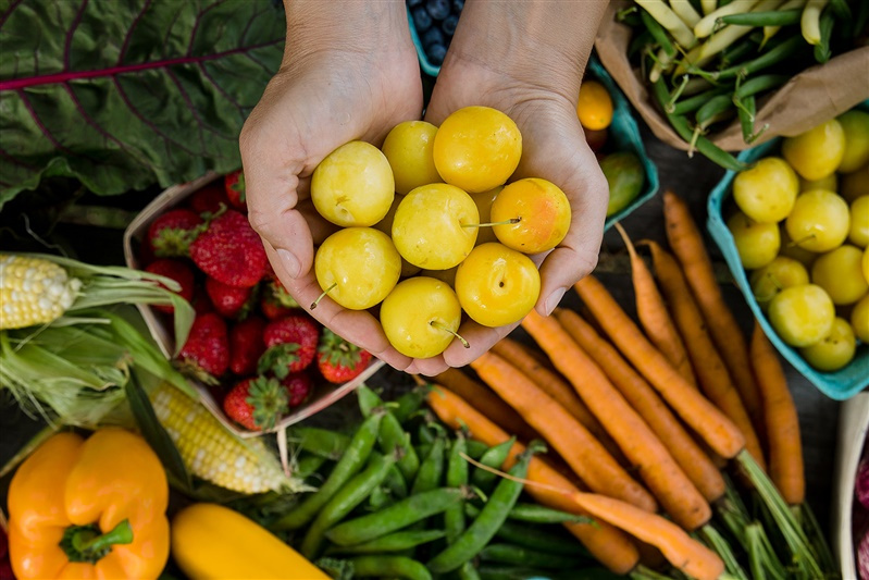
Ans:
[{"label": "smooth yellow squash beside the orange bell pepper", "polygon": [[269,530],[218,504],[193,504],[175,515],[172,557],[193,580],[330,579]]}]

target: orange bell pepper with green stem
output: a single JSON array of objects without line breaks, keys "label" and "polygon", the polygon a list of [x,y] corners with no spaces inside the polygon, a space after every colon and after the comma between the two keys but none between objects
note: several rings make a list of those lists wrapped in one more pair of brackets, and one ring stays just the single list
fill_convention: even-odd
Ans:
[{"label": "orange bell pepper with green stem", "polygon": [[169,558],[169,483],[142,437],[58,433],[9,488],[9,555],[24,578],[157,578]]}]

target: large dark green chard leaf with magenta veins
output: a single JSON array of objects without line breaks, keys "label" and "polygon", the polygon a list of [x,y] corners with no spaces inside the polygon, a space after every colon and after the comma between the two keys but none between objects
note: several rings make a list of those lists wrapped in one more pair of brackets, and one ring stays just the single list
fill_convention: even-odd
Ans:
[{"label": "large dark green chard leaf with magenta veins", "polygon": [[0,0],[0,208],[47,176],[114,195],[237,169],[285,36],[272,0]]}]

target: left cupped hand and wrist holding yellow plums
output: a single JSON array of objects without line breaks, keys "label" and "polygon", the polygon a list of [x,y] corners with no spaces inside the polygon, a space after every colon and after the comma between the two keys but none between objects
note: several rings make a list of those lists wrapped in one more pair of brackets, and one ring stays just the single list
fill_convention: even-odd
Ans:
[{"label": "left cupped hand and wrist holding yellow plums", "polygon": [[[380,145],[402,121],[419,119],[422,82],[404,2],[286,2],[284,63],[241,132],[248,217],[287,292],[300,304],[322,293],[314,244],[336,226],[310,200],[313,170],[353,139]],[[395,350],[368,311],[328,297],[311,314],[397,369]],[[412,370],[412,369],[409,369]]]}]

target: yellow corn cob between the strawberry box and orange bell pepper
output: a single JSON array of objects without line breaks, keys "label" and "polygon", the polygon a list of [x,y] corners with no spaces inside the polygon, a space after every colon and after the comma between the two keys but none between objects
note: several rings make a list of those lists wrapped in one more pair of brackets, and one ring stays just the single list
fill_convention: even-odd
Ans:
[{"label": "yellow corn cob between the strawberry box and orange bell pepper", "polygon": [[300,489],[262,440],[237,437],[208,409],[171,384],[161,383],[149,398],[194,476],[245,494]]}]

